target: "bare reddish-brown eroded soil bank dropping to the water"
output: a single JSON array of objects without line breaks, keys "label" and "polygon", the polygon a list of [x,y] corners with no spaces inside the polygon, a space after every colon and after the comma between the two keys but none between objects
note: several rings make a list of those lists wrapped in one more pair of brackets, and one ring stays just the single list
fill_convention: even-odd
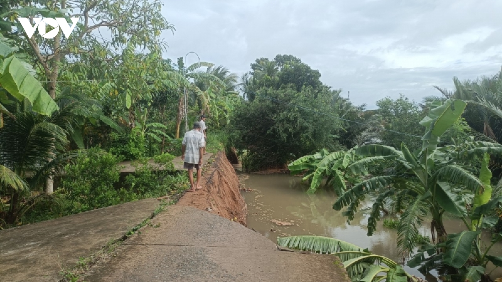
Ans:
[{"label": "bare reddish-brown eroded soil bank dropping to the water", "polygon": [[247,206],[239,192],[239,180],[224,153],[208,161],[201,190],[188,192],[177,205],[195,207],[246,226]]}]

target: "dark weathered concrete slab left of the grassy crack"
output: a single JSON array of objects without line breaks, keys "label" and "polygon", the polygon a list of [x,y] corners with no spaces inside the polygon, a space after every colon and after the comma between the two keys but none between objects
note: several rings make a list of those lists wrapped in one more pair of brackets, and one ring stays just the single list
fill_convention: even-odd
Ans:
[{"label": "dark weathered concrete slab left of the grassy crack", "polygon": [[121,238],[159,206],[145,199],[0,231],[0,281],[58,281],[62,268]]}]

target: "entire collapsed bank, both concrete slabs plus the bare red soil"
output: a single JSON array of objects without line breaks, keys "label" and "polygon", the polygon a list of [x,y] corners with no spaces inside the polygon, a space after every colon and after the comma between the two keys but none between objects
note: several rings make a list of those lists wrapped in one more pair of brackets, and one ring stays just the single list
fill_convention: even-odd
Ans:
[{"label": "entire collapsed bank, both concrete slabs plus the bare red soil", "polygon": [[[0,231],[0,276],[9,281],[349,281],[336,257],[280,251],[244,227],[247,207],[224,154],[209,159],[203,170],[204,189],[185,193],[174,206],[146,199]],[[172,204],[176,197],[162,200]]]}]

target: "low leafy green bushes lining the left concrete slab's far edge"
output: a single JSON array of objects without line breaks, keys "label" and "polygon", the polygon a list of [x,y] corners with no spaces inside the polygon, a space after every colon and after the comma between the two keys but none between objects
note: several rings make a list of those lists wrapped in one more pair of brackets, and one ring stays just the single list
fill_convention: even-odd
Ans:
[{"label": "low leafy green bushes lining the left concrete slab's far edge", "polygon": [[[155,156],[153,164],[146,158],[134,162],[136,172],[126,177],[126,188],[117,189],[114,186],[119,181],[120,168],[116,164],[120,159],[98,148],[83,151],[74,165],[65,167],[62,188],[52,194],[53,200],[38,202],[21,222],[39,222],[186,190],[188,174],[177,172],[173,159],[165,153]],[[163,170],[159,170],[161,167]]]}]

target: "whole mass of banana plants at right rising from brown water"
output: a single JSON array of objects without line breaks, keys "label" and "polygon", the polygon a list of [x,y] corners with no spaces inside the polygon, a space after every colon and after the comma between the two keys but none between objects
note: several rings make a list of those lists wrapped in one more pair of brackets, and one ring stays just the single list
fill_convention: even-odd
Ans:
[{"label": "whole mass of banana plants at right rising from brown water", "polygon": [[[428,114],[420,121],[425,126],[421,150],[412,153],[404,142],[401,150],[383,145],[363,145],[347,152],[324,150],[292,162],[289,168],[292,174],[303,172],[304,180],[311,179],[311,192],[327,177],[326,184],[338,194],[333,208],[346,207],[343,215],[348,221],[354,219],[361,200],[369,193],[378,194],[368,218],[368,236],[376,230],[384,203],[391,201],[391,212],[400,214],[400,218],[386,219],[384,226],[397,227],[397,245],[403,258],[409,258],[416,246],[422,245],[410,266],[423,263],[420,269],[428,271],[439,262],[457,269],[455,275],[462,280],[489,280],[484,273],[487,263],[499,266],[501,260],[489,250],[502,236],[495,234],[491,245],[483,248],[480,230],[492,228],[498,217],[489,216],[489,212],[502,208],[502,198],[492,194],[489,170],[490,155],[502,156],[502,145],[474,141],[473,137],[461,139],[460,135],[451,145],[438,146],[440,137],[458,124],[466,103],[448,99],[426,106]],[[379,170],[381,165],[391,165],[392,170]],[[348,174],[369,177],[347,186],[344,177]],[[448,234],[443,224],[445,213],[461,218],[467,230]],[[431,217],[432,242],[418,230],[426,216]],[[424,256],[426,252],[428,257]]]}]

